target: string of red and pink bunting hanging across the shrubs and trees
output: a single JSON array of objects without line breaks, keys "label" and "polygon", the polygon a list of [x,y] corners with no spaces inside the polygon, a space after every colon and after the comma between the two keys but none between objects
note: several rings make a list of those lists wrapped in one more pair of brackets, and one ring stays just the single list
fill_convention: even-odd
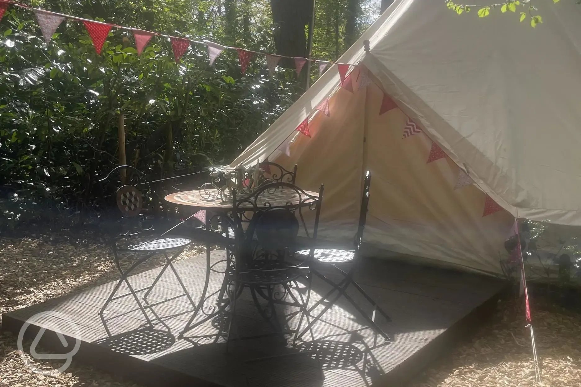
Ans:
[{"label": "string of red and pink bunting hanging across the shrubs and trees", "polygon": [[[251,53],[254,55],[269,55],[271,57],[278,57],[280,58],[289,58],[289,59],[293,59],[295,60],[295,63],[302,63],[304,65],[304,63],[306,63],[307,61],[309,61],[308,58],[305,57],[296,57],[296,56],[287,56],[287,55],[278,55],[278,54],[271,54],[271,53],[267,53],[267,52],[262,52],[262,51],[253,51],[253,50],[247,50],[247,49],[242,49],[239,47],[232,47],[232,46],[223,46],[220,44],[217,44],[215,42],[210,42],[210,41],[199,41],[196,39],[192,39],[189,37],[174,37],[172,35],[166,35],[166,34],[162,34],[160,32],[155,32],[155,31],[147,31],[147,30],[141,30],[140,28],[134,28],[134,27],[126,27],[126,26],[119,26],[118,24],[113,24],[113,23],[106,23],[104,21],[96,21],[96,20],[91,20],[91,19],[85,19],[84,17],[78,17],[78,16],[73,16],[73,15],[66,15],[65,13],[58,13],[58,12],[53,12],[53,11],[49,11],[49,10],[45,10],[45,9],[41,9],[41,8],[34,8],[31,7],[29,5],[23,4],[23,3],[19,3],[13,0],[0,0],[0,20],[2,20],[2,15],[3,13],[8,9],[9,5],[15,5],[19,8],[24,8],[24,9],[28,9],[33,11],[37,16],[38,15],[42,15],[40,18],[37,18],[39,21],[39,24],[42,24],[41,26],[41,30],[42,33],[45,37],[45,40],[48,42],[50,40],[50,37],[48,37],[47,35],[51,32],[52,28],[54,27],[54,24],[57,23],[57,21],[59,21],[58,24],[60,24],[60,22],[62,22],[64,19],[70,19],[70,20],[76,20],[76,21],[80,21],[82,23],[85,24],[85,26],[91,26],[91,28],[93,28],[93,30],[97,30],[97,31],[105,31],[106,28],[117,28],[119,30],[126,30],[126,31],[130,31],[132,34],[135,33],[135,31],[139,31],[138,33],[141,34],[141,36],[146,36],[148,37],[148,39],[146,39],[145,44],[149,41],[149,39],[153,36],[158,36],[158,37],[163,37],[163,38],[168,38],[171,41],[176,41],[175,39],[184,39],[186,41],[189,41],[190,44],[199,44],[199,45],[205,45],[209,48],[209,56],[210,56],[210,61],[211,63],[214,62],[214,60],[216,59],[216,57],[218,56],[218,54],[224,50],[224,49],[231,49],[231,50],[244,50],[247,53]],[[44,26],[44,28],[43,28]],[[58,25],[57,25],[58,27]],[[88,28],[88,27],[87,27]],[[89,35],[91,35],[91,38],[94,39],[91,30],[89,31]],[[107,31],[108,32],[108,31]],[[94,45],[95,45],[95,49],[98,53],[100,53],[100,48],[98,47],[102,47],[103,43],[101,42],[101,37],[102,34],[98,34],[99,38],[94,39]],[[52,36],[51,36],[52,37]],[[145,38],[142,38],[141,41],[136,42],[138,49],[141,48],[139,50],[139,52],[141,53],[141,50],[144,48],[145,44],[144,41]],[[105,42],[103,40],[103,42]],[[181,41],[178,41],[181,42]],[[178,45],[181,49],[181,45]],[[179,54],[179,52],[178,52]],[[182,54],[183,55],[183,54]],[[215,56],[214,56],[215,55]],[[181,57],[181,55],[176,55],[176,53],[174,52],[174,56],[175,57]],[[179,59],[178,59],[179,60]],[[277,61],[278,62],[278,61]],[[325,69],[325,67],[328,66],[328,64],[339,64],[339,65],[343,65],[345,66],[344,68],[347,68],[348,66],[354,66],[354,64],[349,64],[349,63],[339,63],[339,62],[334,62],[332,60],[322,60],[322,59],[310,59],[311,63],[316,63],[318,64],[318,68],[320,70],[320,73],[322,73],[322,70]],[[272,63],[272,62],[271,62]],[[301,66],[302,68],[302,66]],[[297,71],[297,72],[300,72]]]}]

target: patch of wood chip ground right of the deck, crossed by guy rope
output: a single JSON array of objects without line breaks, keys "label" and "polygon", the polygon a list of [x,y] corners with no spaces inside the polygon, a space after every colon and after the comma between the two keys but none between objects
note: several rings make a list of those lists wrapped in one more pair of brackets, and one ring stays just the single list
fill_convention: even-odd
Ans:
[{"label": "patch of wood chip ground right of the deck, crossed by guy rope", "polygon": [[[535,385],[529,330],[522,306],[499,303],[491,323],[453,350],[446,361],[422,375],[414,387]],[[581,319],[557,311],[533,310],[544,386],[578,386],[581,380]]]}]

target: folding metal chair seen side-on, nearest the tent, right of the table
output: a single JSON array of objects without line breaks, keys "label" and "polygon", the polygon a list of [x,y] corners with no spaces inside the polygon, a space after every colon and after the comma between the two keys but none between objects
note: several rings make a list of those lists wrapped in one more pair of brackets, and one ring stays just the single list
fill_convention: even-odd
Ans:
[{"label": "folding metal chair seen side-on, nearest the tent, right of the table", "polygon": [[[335,269],[338,270],[338,272],[340,272],[343,275],[343,280],[340,281],[339,283],[336,283],[336,282],[333,282],[332,280],[328,279],[320,271],[318,271],[317,265],[314,265],[314,267],[311,269],[311,271],[317,277],[320,277],[326,283],[331,285],[332,289],[326,295],[322,296],[322,298],[319,301],[317,301],[313,306],[311,306],[307,310],[307,313],[310,314],[322,302],[327,302],[327,305],[325,306],[325,308],[320,313],[318,313],[317,316],[315,316],[310,321],[309,324],[307,324],[307,327],[302,332],[299,333],[299,335],[298,335],[299,338],[302,337],[311,327],[313,327],[313,325],[315,323],[317,323],[318,320],[321,319],[321,317],[325,314],[325,312],[327,312],[327,310],[329,310],[329,308],[331,308],[335,304],[335,302],[338,301],[340,296],[344,296],[347,299],[347,301],[349,301],[354,306],[354,308],[357,309],[357,311],[364,317],[365,320],[367,320],[367,322],[371,325],[371,327],[379,335],[381,335],[386,341],[389,340],[389,336],[375,323],[375,315],[376,315],[376,312],[379,312],[385,318],[386,321],[391,321],[390,317],[388,316],[388,314],[386,314],[383,311],[383,309],[381,309],[379,307],[379,305],[377,305],[377,303],[367,294],[367,292],[365,292],[363,290],[363,288],[361,288],[361,286],[359,284],[357,284],[356,281],[353,279],[355,271],[358,267],[358,264],[361,261],[360,250],[361,250],[361,242],[363,241],[363,232],[365,229],[365,223],[367,221],[367,211],[368,211],[369,200],[370,200],[370,194],[369,194],[370,186],[371,186],[371,171],[367,171],[367,173],[365,173],[365,178],[364,178],[364,183],[363,183],[363,196],[361,198],[359,222],[357,225],[357,233],[355,235],[355,240],[354,240],[355,249],[353,251],[343,250],[343,249],[317,248],[317,249],[302,250],[302,251],[296,252],[297,255],[302,255],[302,256],[312,254],[314,257],[315,263],[317,263],[318,265],[325,265],[325,266],[334,267]],[[338,263],[352,263],[352,265],[351,265],[348,272],[344,272],[343,270],[339,269],[339,267],[336,266],[336,264],[338,264]],[[350,285],[355,287],[357,289],[357,291],[359,291],[364,296],[364,298],[367,299],[367,301],[370,302],[371,305],[373,306],[374,309],[373,309],[371,317],[367,313],[365,313],[365,311],[363,309],[361,309],[361,307],[359,305],[357,305],[356,302],[354,302],[354,300],[353,300],[353,298],[351,298],[351,296],[349,296],[346,293],[347,287],[349,287]],[[338,294],[335,296],[335,298],[331,299],[331,295],[334,292],[338,292]]]}]

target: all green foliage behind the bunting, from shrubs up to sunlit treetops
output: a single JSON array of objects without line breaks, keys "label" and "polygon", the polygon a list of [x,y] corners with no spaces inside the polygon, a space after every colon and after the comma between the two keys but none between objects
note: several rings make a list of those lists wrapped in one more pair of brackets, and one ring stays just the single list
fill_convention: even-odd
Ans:
[{"label": "all green foliage behind the bunting, from shrubs up to sunlit treetops", "polygon": [[[342,1],[317,2],[314,57],[336,59],[345,51]],[[275,52],[267,0],[25,3]],[[367,7],[357,9],[357,34],[378,14],[379,5]],[[240,153],[296,100],[302,85],[292,69],[279,68],[269,78],[264,57],[241,74],[234,50],[209,67],[205,46],[192,46],[176,64],[161,37],[137,56],[133,37],[116,28],[96,55],[83,24],[73,20],[46,44],[34,13],[11,6],[0,22],[0,230],[64,215],[76,222],[91,207],[96,180],[119,164],[120,114],[127,164],[155,176],[199,171]]]}]

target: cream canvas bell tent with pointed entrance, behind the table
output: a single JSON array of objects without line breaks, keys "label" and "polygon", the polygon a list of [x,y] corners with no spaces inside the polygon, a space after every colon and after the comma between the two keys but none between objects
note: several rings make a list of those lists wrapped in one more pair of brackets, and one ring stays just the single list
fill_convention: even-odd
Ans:
[{"label": "cream canvas bell tent with pointed entrance, behind the table", "polygon": [[[358,89],[355,68],[350,93],[333,66],[231,165],[296,162],[299,185],[325,183],[322,236],[343,239],[371,169],[366,241],[500,272],[512,216],[581,224],[581,8],[537,3],[544,23],[533,29],[515,15],[394,2],[338,60],[364,65],[375,84]],[[379,114],[384,93],[397,108]],[[316,110],[327,97],[329,117]],[[306,117],[311,138],[295,131]],[[422,133],[403,139],[408,119]],[[428,162],[432,144],[447,157]],[[461,169],[475,185],[455,190]],[[506,211],[483,216],[487,196]]]}]

